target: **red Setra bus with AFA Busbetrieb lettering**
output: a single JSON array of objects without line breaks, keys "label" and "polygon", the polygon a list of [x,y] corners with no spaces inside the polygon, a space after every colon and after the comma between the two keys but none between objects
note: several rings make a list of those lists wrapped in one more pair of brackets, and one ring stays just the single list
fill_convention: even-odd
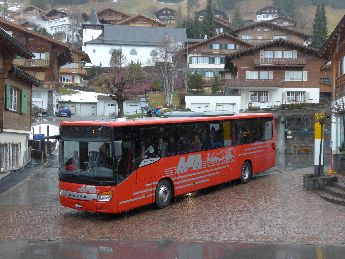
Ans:
[{"label": "red Setra bus with AFA Busbetrieb lettering", "polygon": [[174,196],[235,179],[247,183],[275,166],[274,117],[265,113],[61,122],[59,135],[41,142],[47,138],[59,140],[60,204],[93,212],[165,208]]}]

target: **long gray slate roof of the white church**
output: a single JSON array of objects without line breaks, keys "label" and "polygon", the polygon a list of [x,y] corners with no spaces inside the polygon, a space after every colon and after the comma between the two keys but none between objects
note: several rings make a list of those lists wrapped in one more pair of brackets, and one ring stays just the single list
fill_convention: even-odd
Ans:
[{"label": "long gray slate roof of the white church", "polygon": [[165,37],[165,33],[182,44],[187,38],[186,28],[104,25],[104,36],[100,35],[86,44],[156,46]]}]

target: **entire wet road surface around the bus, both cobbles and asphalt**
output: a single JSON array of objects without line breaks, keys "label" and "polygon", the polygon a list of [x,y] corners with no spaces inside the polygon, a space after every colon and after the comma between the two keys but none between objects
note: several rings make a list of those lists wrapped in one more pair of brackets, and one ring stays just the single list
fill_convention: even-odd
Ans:
[{"label": "entire wet road surface around the bus, both cobbles and asphalt", "polygon": [[0,194],[0,258],[345,258],[345,207],[303,188],[312,155],[277,156],[248,184],[116,215],[61,207],[57,159],[48,158]]}]

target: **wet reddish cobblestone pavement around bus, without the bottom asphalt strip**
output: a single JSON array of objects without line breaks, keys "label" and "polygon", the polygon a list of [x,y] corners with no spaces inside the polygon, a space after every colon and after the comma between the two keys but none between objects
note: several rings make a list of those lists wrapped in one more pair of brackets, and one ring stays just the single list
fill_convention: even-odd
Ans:
[{"label": "wet reddish cobblestone pavement around bus, without the bottom asphalt strip", "polygon": [[303,188],[303,174],[314,168],[221,184],[179,196],[161,210],[149,205],[111,215],[60,206],[56,166],[48,163],[0,196],[0,240],[345,244],[345,207]]}]

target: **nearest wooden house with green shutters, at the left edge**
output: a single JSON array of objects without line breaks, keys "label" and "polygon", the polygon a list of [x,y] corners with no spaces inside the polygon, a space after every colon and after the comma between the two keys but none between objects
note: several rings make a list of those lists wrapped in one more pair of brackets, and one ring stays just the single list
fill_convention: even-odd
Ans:
[{"label": "nearest wooden house with green shutters, at the left edge", "polygon": [[37,78],[12,64],[13,59],[30,59],[34,54],[0,28],[0,177],[27,163],[25,156],[31,129],[32,87]]}]

